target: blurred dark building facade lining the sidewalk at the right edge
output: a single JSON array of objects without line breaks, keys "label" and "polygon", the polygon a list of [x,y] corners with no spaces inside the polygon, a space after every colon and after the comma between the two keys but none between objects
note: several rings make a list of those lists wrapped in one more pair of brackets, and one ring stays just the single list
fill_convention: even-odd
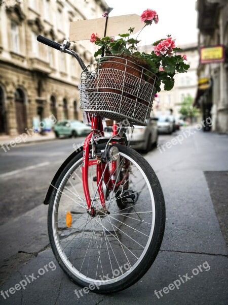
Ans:
[{"label": "blurred dark building facade lining the sidewalk at the right edge", "polygon": [[[203,118],[211,116],[212,130],[228,133],[228,2],[198,0],[199,47],[224,48],[223,62],[199,64],[199,87],[194,105]],[[199,50],[200,51],[200,50]]]}]

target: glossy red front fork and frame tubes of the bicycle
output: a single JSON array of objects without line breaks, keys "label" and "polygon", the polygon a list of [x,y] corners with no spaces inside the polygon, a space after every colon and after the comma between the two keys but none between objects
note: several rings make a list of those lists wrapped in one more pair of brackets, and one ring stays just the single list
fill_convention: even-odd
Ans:
[{"label": "glossy red front fork and frame tubes of the bicycle", "polygon": [[[112,125],[112,136],[117,136],[118,135],[118,125],[113,124]],[[100,137],[104,136],[104,130],[103,130],[103,124],[102,124],[102,119],[100,116],[94,116],[92,117],[91,120],[91,133],[87,136],[85,142],[84,142],[84,147],[83,147],[83,166],[82,166],[82,178],[83,178],[83,189],[85,193],[85,198],[86,202],[88,205],[88,209],[91,209],[91,197],[90,197],[90,192],[89,192],[89,185],[88,185],[88,171],[89,171],[89,166],[96,165],[96,174],[97,174],[97,191],[100,197],[100,202],[105,208],[105,197],[104,197],[104,192],[103,192],[103,186],[101,182],[101,178],[103,175],[103,181],[107,189],[110,191],[113,190],[114,188],[118,188],[128,177],[128,173],[125,174],[123,179],[119,181],[118,183],[116,182],[116,170],[117,170],[117,162],[116,161],[111,161],[111,168],[109,169],[109,166],[105,166],[105,163],[102,162],[101,160],[96,159],[90,159],[90,145],[92,141],[92,137]],[[112,143],[115,143],[113,141]]]}]

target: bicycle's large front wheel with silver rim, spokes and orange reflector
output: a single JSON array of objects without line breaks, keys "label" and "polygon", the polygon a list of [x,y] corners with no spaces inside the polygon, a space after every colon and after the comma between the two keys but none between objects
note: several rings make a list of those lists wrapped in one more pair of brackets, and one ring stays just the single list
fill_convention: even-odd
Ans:
[{"label": "bicycle's large front wheel with silver rim, spokes and orange reflector", "polygon": [[[87,213],[83,153],[62,171],[49,204],[49,238],[59,265],[73,282],[97,293],[121,291],[137,282],[153,264],[165,229],[165,202],[154,170],[135,150],[115,145],[120,151],[116,178],[125,174],[125,179],[115,191],[102,182],[109,214]],[[105,145],[96,149],[103,151]],[[96,165],[89,166],[89,187],[93,207],[102,209]]]}]

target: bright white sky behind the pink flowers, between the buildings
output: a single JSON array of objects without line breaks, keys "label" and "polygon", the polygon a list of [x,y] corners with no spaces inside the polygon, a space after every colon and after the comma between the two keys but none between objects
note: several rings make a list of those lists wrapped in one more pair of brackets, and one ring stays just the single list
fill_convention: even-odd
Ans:
[{"label": "bright white sky behind the pink flowers, between the buildings", "polygon": [[197,42],[196,0],[106,0],[106,3],[113,8],[109,16],[141,15],[146,9],[158,13],[158,24],[153,22],[145,27],[138,37],[142,45],[151,44],[167,35],[176,39],[176,46]]}]

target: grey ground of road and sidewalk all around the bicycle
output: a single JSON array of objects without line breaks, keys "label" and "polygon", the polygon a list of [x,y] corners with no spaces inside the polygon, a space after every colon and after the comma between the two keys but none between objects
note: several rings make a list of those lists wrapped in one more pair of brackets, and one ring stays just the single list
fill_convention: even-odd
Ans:
[{"label": "grey ground of road and sidewalk all around the bicycle", "polygon": [[[183,133],[187,136],[181,142],[166,146]],[[228,136],[194,128],[186,133],[183,129],[160,135],[160,149],[155,147],[144,155],[164,192],[165,235],[159,255],[146,275],[112,295],[80,294],[82,288],[63,273],[49,246],[48,206],[43,201],[55,172],[72,153],[73,143],[83,140],[58,139],[18,145],[7,153],[0,150],[0,291],[10,291],[25,276],[34,274],[23,289],[0,295],[1,304],[226,304],[227,248],[220,229],[225,226],[219,224],[222,217],[216,215],[212,201],[216,201],[216,188],[211,198],[208,181],[210,172],[216,171],[217,179],[228,172]],[[224,179],[227,180],[225,176]],[[222,183],[225,189],[225,182]],[[226,200],[227,209],[223,191],[219,198],[220,202]],[[46,271],[39,278],[37,270],[45,265]],[[163,290],[177,280],[180,284],[176,282],[178,285],[168,292]]]}]

